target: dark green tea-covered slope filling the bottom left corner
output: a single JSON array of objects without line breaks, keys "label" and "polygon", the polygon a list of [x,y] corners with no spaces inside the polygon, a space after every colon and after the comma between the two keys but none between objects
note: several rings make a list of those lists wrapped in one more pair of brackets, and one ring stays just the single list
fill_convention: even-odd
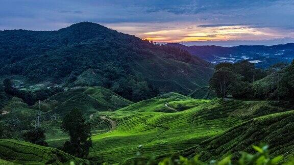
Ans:
[{"label": "dark green tea-covered slope filling the bottom left corner", "polygon": [[[0,140],[0,163],[64,164],[70,161],[87,163],[87,160],[71,156],[58,149],[34,145],[16,140]],[[9,164],[9,163],[8,163]]]}]

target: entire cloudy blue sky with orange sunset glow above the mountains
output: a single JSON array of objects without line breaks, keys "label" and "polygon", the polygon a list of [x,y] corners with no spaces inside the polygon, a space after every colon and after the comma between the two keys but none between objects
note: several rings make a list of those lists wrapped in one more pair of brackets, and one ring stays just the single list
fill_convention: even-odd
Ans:
[{"label": "entire cloudy blue sky with orange sunset glow above the mountains", "polygon": [[58,30],[90,21],[157,43],[294,42],[294,0],[0,0],[0,30]]}]

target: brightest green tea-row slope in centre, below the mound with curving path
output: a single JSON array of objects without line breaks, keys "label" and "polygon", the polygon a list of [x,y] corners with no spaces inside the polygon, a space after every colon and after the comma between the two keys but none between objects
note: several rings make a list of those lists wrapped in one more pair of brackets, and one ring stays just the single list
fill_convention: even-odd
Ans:
[{"label": "brightest green tea-row slope in centre, below the mound with curving path", "polygon": [[[270,106],[267,102],[213,100],[203,101],[197,107],[178,113],[96,113],[92,120],[101,115],[107,116],[116,121],[117,128],[92,137],[94,147],[89,157],[91,160],[119,162],[134,156],[139,151],[139,145],[143,146],[145,155],[179,152],[259,116],[259,108]],[[283,111],[272,109],[268,113]],[[236,111],[247,112],[246,118],[236,115]]]}]

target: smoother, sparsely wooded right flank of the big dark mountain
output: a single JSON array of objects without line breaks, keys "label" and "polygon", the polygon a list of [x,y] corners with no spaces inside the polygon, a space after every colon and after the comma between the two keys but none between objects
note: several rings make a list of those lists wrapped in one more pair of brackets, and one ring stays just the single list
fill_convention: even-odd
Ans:
[{"label": "smoother, sparsely wooded right flank of the big dark mountain", "polygon": [[155,87],[163,92],[189,94],[195,89],[207,86],[214,70],[206,66],[189,64],[174,59],[155,56],[142,59],[131,65]]}]

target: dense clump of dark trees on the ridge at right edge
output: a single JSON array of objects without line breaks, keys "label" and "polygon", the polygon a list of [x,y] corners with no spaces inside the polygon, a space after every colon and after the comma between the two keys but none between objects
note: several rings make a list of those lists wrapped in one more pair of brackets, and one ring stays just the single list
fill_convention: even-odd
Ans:
[{"label": "dense clump of dark trees on the ridge at right edge", "polygon": [[236,99],[294,100],[294,65],[278,63],[268,69],[255,68],[249,61],[215,66],[210,88],[218,97]]}]

